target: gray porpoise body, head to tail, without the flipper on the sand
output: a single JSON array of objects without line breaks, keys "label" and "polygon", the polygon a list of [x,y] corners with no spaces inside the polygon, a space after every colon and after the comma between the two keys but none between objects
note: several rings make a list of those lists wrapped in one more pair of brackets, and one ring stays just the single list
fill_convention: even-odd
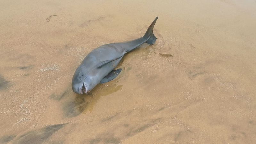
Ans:
[{"label": "gray porpoise body, head to tail, without the flipper on the sand", "polygon": [[72,78],[72,90],[77,94],[90,92],[100,81],[116,68],[120,60],[127,53],[143,43],[154,44],[156,37],[153,28],[156,19],[149,26],[141,38],[123,43],[102,45],[90,52],[76,69]]}]

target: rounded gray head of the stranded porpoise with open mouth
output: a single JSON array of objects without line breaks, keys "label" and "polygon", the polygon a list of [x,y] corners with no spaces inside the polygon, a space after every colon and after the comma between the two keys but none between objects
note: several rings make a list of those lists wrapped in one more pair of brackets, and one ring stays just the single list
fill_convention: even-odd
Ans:
[{"label": "rounded gray head of the stranded porpoise with open mouth", "polygon": [[87,75],[80,70],[76,69],[73,78],[72,78],[72,90],[77,94],[88,94],[90,92],[90,79],[87,79]]}]

